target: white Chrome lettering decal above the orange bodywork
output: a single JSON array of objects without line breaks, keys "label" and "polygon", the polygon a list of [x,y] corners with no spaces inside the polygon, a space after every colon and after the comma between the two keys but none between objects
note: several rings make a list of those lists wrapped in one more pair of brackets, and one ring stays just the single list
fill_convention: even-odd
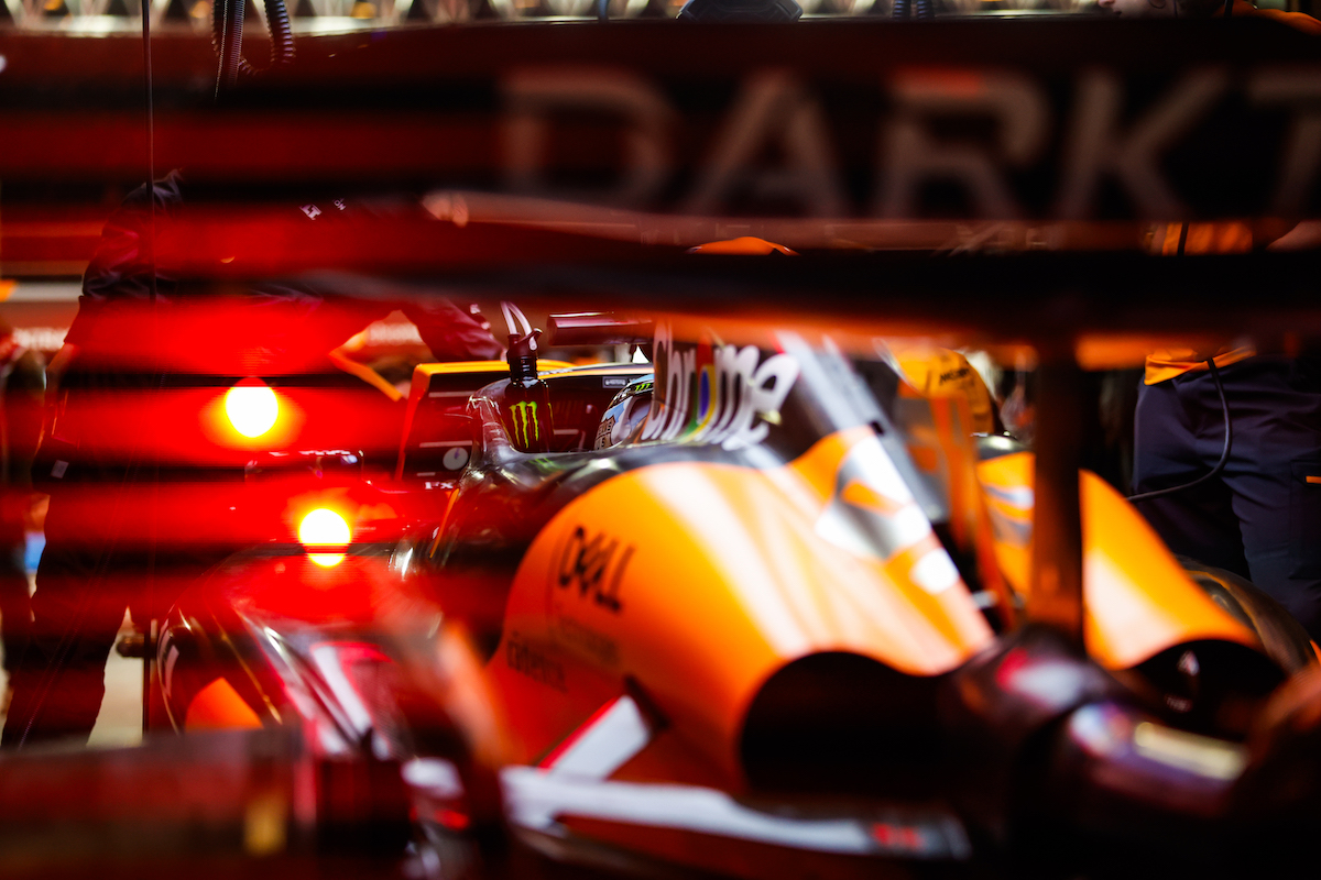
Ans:
[{"label": "white Chrome lettering decal above the orange bodywork", "polygon": [[754,446],[766,438],[766,420],[778,417],[798,380],[793,355],[762,360],[756,346],[675,343],[668,326],[657,327],[654,351],[659,406],[643,441]]}]

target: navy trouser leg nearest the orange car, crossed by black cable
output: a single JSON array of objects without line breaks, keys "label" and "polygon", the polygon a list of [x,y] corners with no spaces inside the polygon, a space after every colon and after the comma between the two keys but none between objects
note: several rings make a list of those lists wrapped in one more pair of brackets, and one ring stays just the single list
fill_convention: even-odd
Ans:
[{"label": "navy trouser leg nearest the orange car, crossed by black cable", "polygon": [[[1133,425],[1133,491],[1149,492],[1192,483],[1219,459],[1225,439],[1219,398],[1206,417],[1197,379],[1143,385]],[[1149,501],[1140,501],[1147,521],[1177,554],[1247,577],[1238,517],[1229,487],[1211,479]]]}]

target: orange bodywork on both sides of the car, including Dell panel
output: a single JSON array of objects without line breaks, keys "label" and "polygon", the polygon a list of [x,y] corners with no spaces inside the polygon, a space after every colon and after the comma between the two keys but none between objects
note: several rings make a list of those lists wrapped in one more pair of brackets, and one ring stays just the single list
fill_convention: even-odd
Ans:
[{"label": "orange bodywork on both sides of the car, including Dell panel", "polygon": [[[939,408],[937,439],[959,496],[951,524],[1018,599],[1028,591],[1032,464],[1028,453],[975,463],[960,408]],[[938,414],[941,414],[938,413]],[[947,441],[947,442],[946,442]],[[826,437],[781,467],[663,463],[627,471],[560,511],[514,578],[489,665],[517,760],[548,760],[627,689],[671,723],[614,778],[682,780],[738,790],[737,743],[757,689],[816,652],[852,652],[910,676],[939,676],[993,633],[962,579],[923,587],[915,566],[937,553],[909,489],[841,480],[869,427]],[[865,454],[865,453],[863,453]],[[888,460],[888,459],[886,459]],[[1256,636],[1184,573],[1141,516],[1082,474],[1089,652],[1132,668],[1173,645]],[[831,540],[832,505],[894,522],[921,520],[889,555]]]}]

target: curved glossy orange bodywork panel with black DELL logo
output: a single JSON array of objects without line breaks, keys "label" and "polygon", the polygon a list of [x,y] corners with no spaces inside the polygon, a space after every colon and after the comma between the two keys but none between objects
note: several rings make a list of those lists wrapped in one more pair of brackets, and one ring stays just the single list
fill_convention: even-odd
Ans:
[{"label": "curved glossy orange bodywork panel with black DELL logo", "polygon": [[[991,628],[898,475],[838,486],[844,459],[869,446],[880,453],[859,427],[777,468],[642,467],[556,515],[518,569],[489,666],[520,760],[542,759],[627,681],[683,740],[657,748],[708,770],[705,784],[737,788],[744,714],[791,660],[843,650],[937,676],[988,645]],[[906,545],[885,559],[841,549],[827,528],[836,504],[906,521]],[[933,583],[945,565],[952,577]],[[639,756],[633,772],[649,764]]]}]

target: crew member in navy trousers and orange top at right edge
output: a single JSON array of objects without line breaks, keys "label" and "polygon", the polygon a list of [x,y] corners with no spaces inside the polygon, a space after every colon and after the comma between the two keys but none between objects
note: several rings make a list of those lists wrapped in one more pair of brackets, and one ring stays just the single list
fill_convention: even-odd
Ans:
[{"label": "crew member in navy trousers and orange top at right edge", "polygon": [[[1225,12],[1219,0],[1099,4],[1135,18]],[[1321,22],[1310,16],[1256,9],[1244,0],[1234,0],[1231,16],[1269,17],[1321,34]],[[1314,244],[1312,231],[1312,224],[1300,224],[1276,247]],[[1172,224],[1164,232],[1157,248],[1162,253],[1252,247],[1242,224]],[[1232,446],[1215,472],[1226,430],[1232,431]],[[1213,479],[1199,480],[1210,474]],[[1135,417],[1135,489],[1143,495],[1194,480],[1189,488],[1139,501],[1169,548],[1250,578],[1321,640],[1321,359],[1258,354],[1247,344],[1149,356]]]}]

